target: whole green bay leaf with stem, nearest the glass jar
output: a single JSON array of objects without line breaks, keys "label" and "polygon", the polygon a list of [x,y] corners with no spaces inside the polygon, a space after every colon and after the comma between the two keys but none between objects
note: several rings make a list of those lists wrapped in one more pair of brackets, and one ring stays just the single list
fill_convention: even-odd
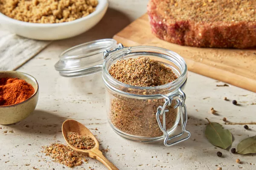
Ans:
[{"label": "whole green bay leaf with stem, nearest the glass jar", "polygon": [[[207,118],[206,118],[207,119]],[[210,122],[205,129],[205,136],[211,144],[227,149],[232,144],[232,134],[229,130],[224,129],[223,126],[216,122]]]}]

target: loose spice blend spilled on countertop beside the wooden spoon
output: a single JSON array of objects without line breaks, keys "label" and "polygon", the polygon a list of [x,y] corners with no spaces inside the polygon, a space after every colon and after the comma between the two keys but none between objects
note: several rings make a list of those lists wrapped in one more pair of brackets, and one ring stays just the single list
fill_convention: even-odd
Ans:
[{"label": "loose spice blend spilled on countertop beside the wooden spoon", "polygon": [[87,162],[86,156],[81,155],[64,144],[54,143],[43,148],[42,152],[46,153],[46,156],[50,156],[55,162],[64,164],[67,167],[79,166],[83,164],[82,160]]}]

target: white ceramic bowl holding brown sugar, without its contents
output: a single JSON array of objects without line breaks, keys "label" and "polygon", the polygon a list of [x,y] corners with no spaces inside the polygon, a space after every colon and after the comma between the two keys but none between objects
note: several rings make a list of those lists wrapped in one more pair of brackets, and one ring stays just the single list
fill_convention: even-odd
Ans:
[{"label": "white ceramic bowl holding brown sugar, without its contents", "polygon": [[0,13],[0,24],[12,33],[35,40],[60,40],[79,35],[102,19],[108,8],[108,0],[98,0],[96,10],[82,18],[65,23],[28,23]]}]

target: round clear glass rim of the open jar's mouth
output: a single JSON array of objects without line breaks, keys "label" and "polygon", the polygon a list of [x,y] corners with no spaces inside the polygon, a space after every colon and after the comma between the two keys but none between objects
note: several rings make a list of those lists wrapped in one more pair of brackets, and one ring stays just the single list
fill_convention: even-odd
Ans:
[{"label": "round clear glass rim of the open jar's mouth", "polygon": [[[127,54],[130,53],[131,50],[140,50],[140,51],[149,51],[149,53],[151,51],[155,51],[155,52],[159,52],[159,54],[166,54],[169,56],[168,57],[164,57],[165,59],[172,61],[172,59],[175,59],[176,63],[173,62],[176,66],[178,66],[177,64],[179,64],[181,67],[181,74],[179,75],[179,77],[177,79],[175,79],[172,82],[169,82],[168,84],[165,85],[160,85],[160,86],[153,86],[153,87],[140,87],[140,86],[134,86],[134,85],[128,85],[125,84],[123,82],[119,82],[118,80],[116,80],[115,78],[113,78],[110,73],[108,72],[108,68],[107,68],[107,64],[109,62],[111,62],[112,57],[113,56],[118,56],[120,55],[122,52],[127,51]],[[159,56],[155,56],[155,57],[159,57]],[[107,79],[109,85],[111,86],[121,86],[121,87],[125,87],[125,88],[131,88],[131,89],[136,89],[136,90],[161,90],[161,89],[165,89],[165,88],[172,88],[172,90],[177,89],[178,87],[180,87],[181,85],[183,85],[183,83],[186,81],[187,78],[187,65],[185,60],[177,53],[175,53],[174,51],[170,51],[166,48],[160,48],[160,47],[156,47],[156,46],[148,46],[148,45],[140,45],[140,46],[133,46],[133,47],[124,47],[121,48],[117,51],[113,51],[111,52],[111,54],[108,55],[108,57],[105,59],[105,61],[103,62],[103,71],[102,71],[102,77],[103,80],[105,81]],[[105,82],[106,84],[106,82]]]}]

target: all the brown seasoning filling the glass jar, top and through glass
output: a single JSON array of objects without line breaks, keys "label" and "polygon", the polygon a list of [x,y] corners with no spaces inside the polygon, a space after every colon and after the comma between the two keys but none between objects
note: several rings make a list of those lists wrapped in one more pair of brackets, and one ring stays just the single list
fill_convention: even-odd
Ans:
[{"label": "all the brown seasoning filling the glass jar, top and through glass", "polygon": [[[140,87],[165,85],[177,79],[171,68],[148,57],[118,60],[109,73],[119,82]],[[155,114],[158,106],[164,102],[165,99],[133,99],[116,95],[111,99],[110,121],[118,130],[134,136],[163,136]],[[166,107],[167,130],[173,127],[177,118],[175,104],[172,102],[171,106]],[[160,121],[163,121],[163,116],[160,116]]]}]

